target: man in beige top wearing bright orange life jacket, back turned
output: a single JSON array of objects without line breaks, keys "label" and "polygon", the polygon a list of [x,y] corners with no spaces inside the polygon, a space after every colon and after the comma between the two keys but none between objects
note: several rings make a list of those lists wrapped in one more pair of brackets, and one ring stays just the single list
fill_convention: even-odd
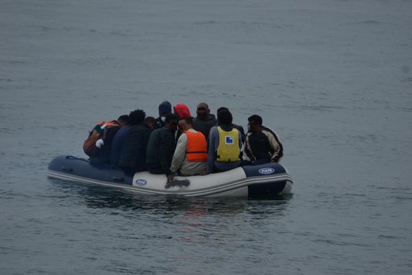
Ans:
[{"label": "man in beige top wearing bright orange life jacket, back turned", "polygon": [[192,128],[192,118],[181,118],[179,129],[182,134],[177,140],[168,181],[179,172],[183,176],[204,175],[207,170],[207,142],[203,133]]}]

